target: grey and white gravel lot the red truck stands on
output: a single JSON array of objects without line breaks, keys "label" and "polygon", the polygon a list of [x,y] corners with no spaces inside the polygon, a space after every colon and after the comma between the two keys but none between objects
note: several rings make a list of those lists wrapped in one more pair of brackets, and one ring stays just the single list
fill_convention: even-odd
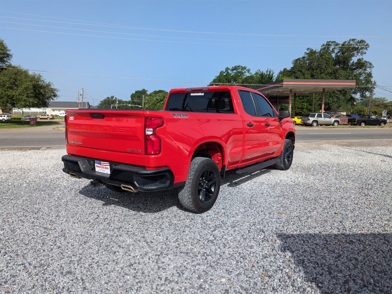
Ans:
[{"label": "grey and white gravel lot the red truck stands on", "polygon": [[0,293],[392,293],[392,143],[298,144],[214,209],[116,194],[65,149],[0,151]]}]

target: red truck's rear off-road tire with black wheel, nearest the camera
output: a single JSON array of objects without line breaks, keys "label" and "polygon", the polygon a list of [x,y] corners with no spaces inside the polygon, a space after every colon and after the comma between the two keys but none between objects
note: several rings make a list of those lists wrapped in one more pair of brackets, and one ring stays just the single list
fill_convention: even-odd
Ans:
[{"label": "red truck's rear off-road tire with black wheel, nearest the camera", "polygon": [[[203,202],[200,197],[200,193],[203,194],[204,190],[200,190],[203,183],[203,175],[208,172],[209,178],[215,180],[211,185],[208,186],[210,191],[212,191],[211,198],[207,201],[207,196],[205,196],[205,201]],[[212,179],[212,176],[214,179]],[[207,179],[208,180],[208,179]],[[207,183],[205,183],[207,185]],[[213,185],[213,187],[212,187]],[[191,165],[189,167],[187,181],[185,187],[178,194],[178,199],[181,205],[192,212],[203,213],[209,211],[216,199],[218,198],[220,189],[220,172],[218,165],[211,159],[205,157],[195,157],[192,159]],[[205,193],[207,193],[205,191]]]}]

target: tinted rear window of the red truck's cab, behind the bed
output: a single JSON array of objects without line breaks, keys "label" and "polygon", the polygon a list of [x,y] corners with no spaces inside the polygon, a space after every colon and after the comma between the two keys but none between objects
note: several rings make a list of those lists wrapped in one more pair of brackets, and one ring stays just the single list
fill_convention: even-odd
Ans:
[{"label": "tinted rear window of the red truck's cab, behind the bed", "polygon": [[166,110],[208,113],[234,113],[230,91],[171,93]]}]

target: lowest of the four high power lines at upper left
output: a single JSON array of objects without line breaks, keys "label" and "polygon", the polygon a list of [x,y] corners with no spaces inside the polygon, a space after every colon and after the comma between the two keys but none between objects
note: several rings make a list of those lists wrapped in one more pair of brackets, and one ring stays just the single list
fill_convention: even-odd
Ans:
[{"label": "lowest of the four high power lines at upper left", "polygon": [[[67,34],[74,36],[87,36],[87,37],[98,37],[98,38],[110,38],[110,39],[122,39],[122,40],[135,40],[135,41],[149,41],[149,42],[163,42],[163,43],[180,43],[180,44],[200,44],[200,45],[232,45],[232,46],[253,46],[253,47],[304,47],[304,45],[256,45],[256,44],[223,44],[223,43],[202,43],[202,42],[180,42],[180,41],[164,41],[164,40],[146,40],[146,39],[135,39],[135,38],[122,38],[122,37],[111,37],[111,36],[96,36],[87,34],[73,34],[73,33],[63,33],[63,32],[51,32],[51,31],[39,31],[39,30],[29,30],[29,29],[17,29],[14,27],[1,27],[2,29],[13,29],[18,31],[30,31],[30,32],[41,32],[41,33],[53,33],[53,34]],[[321,46],[321,45],[320,45]],[[332,47],[334,45],[325,46]],[[372,47],[391,47],[392,45],[377,45]],[[352,47],[352,46],[339,46],[339,47]]]}]

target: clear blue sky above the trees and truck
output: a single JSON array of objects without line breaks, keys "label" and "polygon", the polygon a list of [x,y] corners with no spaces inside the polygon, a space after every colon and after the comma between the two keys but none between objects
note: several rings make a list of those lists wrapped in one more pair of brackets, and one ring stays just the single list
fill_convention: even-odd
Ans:
[{"label": "clear blue sky above the trees and truck", "polygon": [[[238,64],[278,73],[307,47],[356,37],[370,44],[377,84],[392,86],[392,1],[1,0],[0,10],[0,38],[27,69],[209,83]],[[41,74],[60,89],[58,100],[77,101],[83,87],[95,105],[143,88],[202,85]]]}]

